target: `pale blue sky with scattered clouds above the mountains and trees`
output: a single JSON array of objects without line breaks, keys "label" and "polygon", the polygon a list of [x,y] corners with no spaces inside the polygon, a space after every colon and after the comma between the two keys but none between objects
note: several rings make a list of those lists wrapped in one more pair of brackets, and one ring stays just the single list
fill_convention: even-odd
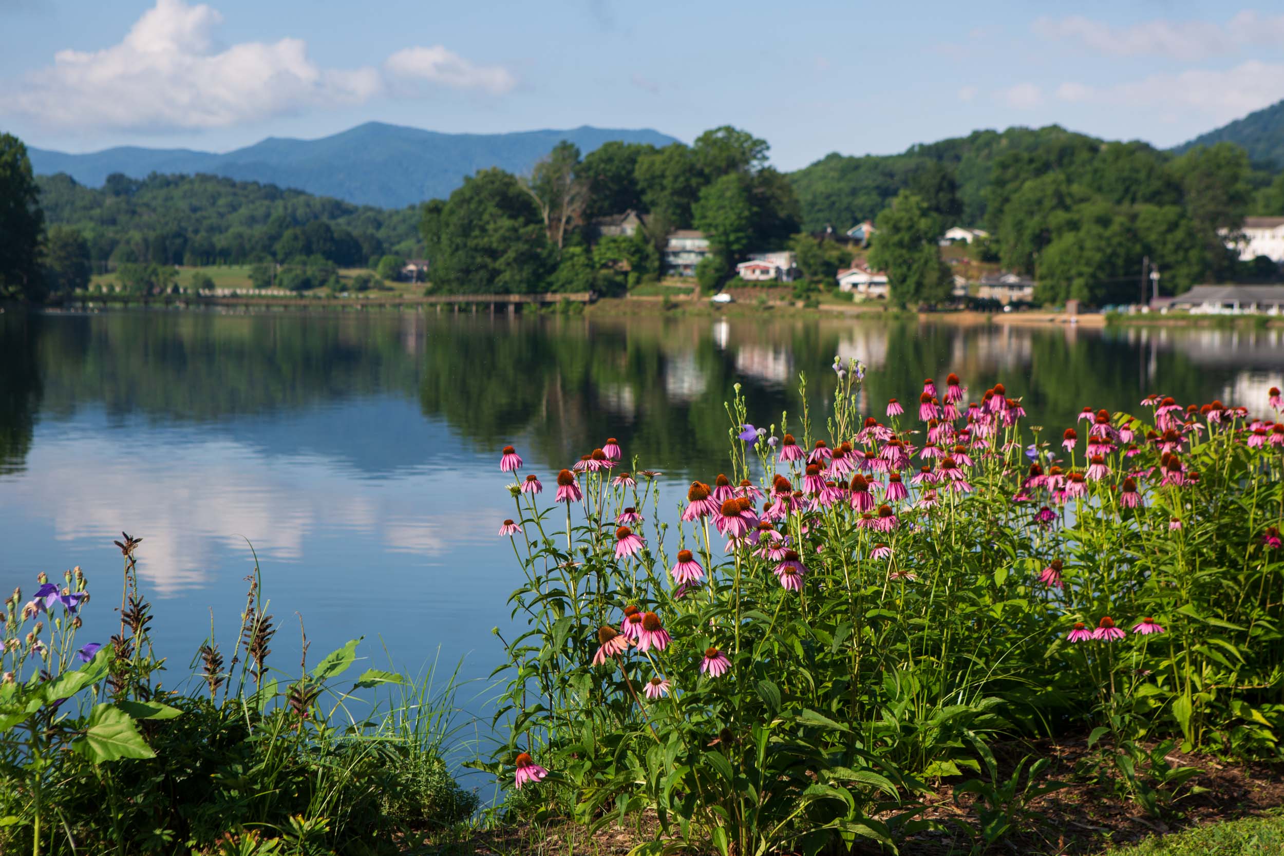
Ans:
[{"label": "pale blue sky with scattered clouds above the mountains and trees", "polygon": [[435,131],[736,124],[794,169],[976,128],[1157,145],[1284,98],[1284,3],[0,0],[0,130],[223,151]]}]

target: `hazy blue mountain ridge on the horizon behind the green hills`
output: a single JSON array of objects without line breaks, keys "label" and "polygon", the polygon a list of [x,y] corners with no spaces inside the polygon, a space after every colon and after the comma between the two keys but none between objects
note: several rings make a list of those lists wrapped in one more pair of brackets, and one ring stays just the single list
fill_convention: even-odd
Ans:
[{"label": "hazy blue mountain ridge on the horizon behind the green hills", "polygon": [[528,172],[561,140],[588,154],[603,142],[650,142],[663,146],[674,137],[651,131],[579,127],[570,131],[514,133],[438,133],[398,124],[367,122],[321,137],[268,137],[226,154],[189,149],[122,146],[91,154],[65,154],[28,148],[36,175],[65,172],[90,187],[109,175],[131,178],[149,173],[205,172],[240,181],[294,187],[351,203],[403,208],[425,199],[444,198],[478,169],[501,167]]}]

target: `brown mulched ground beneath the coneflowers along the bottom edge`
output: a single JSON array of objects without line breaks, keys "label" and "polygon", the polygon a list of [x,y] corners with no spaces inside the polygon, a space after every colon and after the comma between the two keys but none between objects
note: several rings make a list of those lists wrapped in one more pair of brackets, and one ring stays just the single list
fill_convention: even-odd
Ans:
[{"label": "brown mulched ground beneath the coneflowers along the bottom edge", "polygon": [[[1043,816],[1031,819],[1027,829],[994,846],[993,853],[1022,856],[1089,856],[1111,844],[1127,844],[1153,834],[1166,834],[1192,826],[1225,820],[1260,816],[1284,807],[1284,766],[1266,764],[1230,764],[1212,756],[1171,752],[1167,761],[1175,766],[1199,767],[1186,785],[1207,788],[1203,793],[1183,796],[1168,809],[1165,819],[1152,817],[1135,802],[1118,796],[1107,783],[1082,782],[1076,767],[1090,757],[1086,739],[1035,740],[995,747],[1000,774],[1009,774],[1026,756],[1048,757],[1052,765],[1043,778],[1064,782],[1068,787],[1037,798],[1030,807]],[[1081,773],[1081,771],[1080,771]],[[953,785],[940,783],[923,798],[927,806],[919,816],[933,820],[939,829],[914,835],[901,844],[904,856],[962,856],[968,853],[972,838],[964,832],[976,826],[972,811],[975,798],[963,794],[954,802]],[[1032,828],[1031,828],[1032,826]],[[651,839],[657,832],[654,816],[634,817],[629,826],[609,826],[592,838],[577,824],[535,828],[511,826],[471,835],[466,841],[438,839],[425,851],[442,856],[615,856],[628,853],[634,846]],[[860,856],[878,853],[877,848],[856,850]],[[698,855],[704,856],[704,855]]]}]

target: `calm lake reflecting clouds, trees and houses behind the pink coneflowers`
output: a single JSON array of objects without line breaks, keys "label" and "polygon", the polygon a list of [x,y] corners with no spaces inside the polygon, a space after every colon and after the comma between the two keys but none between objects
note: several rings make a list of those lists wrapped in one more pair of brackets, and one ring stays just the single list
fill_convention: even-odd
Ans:
[{"label": "calm lake reflecting clouds, trees and houses behind the pink coneflowers", "polygon": [[[672,508],[724,467],[723,402],[796,420],[799,372],[827,404],[835,355],[869,367],[863,404],[917,402],[954,371],[996,381],[1059,431],[1084,404],[1138,409],[1145,393],[1265,407],[1284,335],[1247,329],[960,327],[882,320],[248,313],[0,314],[0,585],[80,565],[95,602],[82,640],[113,631],[121,531],[154,635],[177,674],[211,634],[230,651],[250,545],[297,672],[298,612],[315,662],[366,635],[374,666],[435,657],[480,678],[519,583],[499,450],[553,477],[618,438],[663,471]],[[796,421],[792,422],[796,425]],[[386,651],[386,653],[385,653]],[[176,675],[177,676],[177,675]],[[168,683],[173,683],[173,678]],[[480,692],[480,684],[474,688]],[[469,690],[469,696],[476,693]],[[470,708],[479,710],[474,702]]]}]

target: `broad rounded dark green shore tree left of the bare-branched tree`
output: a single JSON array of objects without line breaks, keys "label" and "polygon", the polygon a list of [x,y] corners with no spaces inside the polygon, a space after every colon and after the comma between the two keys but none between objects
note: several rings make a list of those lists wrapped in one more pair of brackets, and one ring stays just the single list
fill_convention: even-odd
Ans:
[{"label": "broad rounded dark green shore tree left of the bare-branched tree", "polygon": [[421,231],[433,285],[447,293],[538,291],[555,263],[534,201],[502,169],[483,169],[444,203],[425,205]]}]

